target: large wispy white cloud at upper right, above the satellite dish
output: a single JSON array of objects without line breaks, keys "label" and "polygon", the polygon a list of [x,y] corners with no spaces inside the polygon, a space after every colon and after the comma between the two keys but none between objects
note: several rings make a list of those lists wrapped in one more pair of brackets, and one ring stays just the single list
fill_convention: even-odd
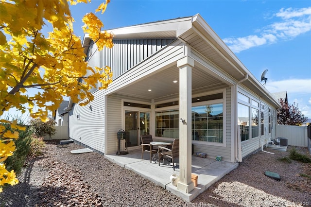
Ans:
[{"label": "large wispy white cloud at upper right, above the satellite dish", "polygon": [[262,29],[257,29],[259,35],[225,38],[224,42],[236,53],[264,44],[275,43],[279,39],[291,39],[311,31],[311,7],[280,9],[274,17],[281,21],[272,23]]}]

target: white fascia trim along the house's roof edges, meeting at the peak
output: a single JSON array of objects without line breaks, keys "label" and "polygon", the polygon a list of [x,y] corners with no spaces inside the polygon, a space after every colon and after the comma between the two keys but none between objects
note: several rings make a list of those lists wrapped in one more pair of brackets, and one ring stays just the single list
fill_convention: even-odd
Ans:
[{"label": "white fascia trim along the house's roof edges, meeting at the peak", "polygon": [[[248,80],[252,85],[258,88],[262,93],[266,94],[269,99],[275,102],[275,98],[259,83],[259,81],[254,77],[253,74],[242,64],[238,57],[228,48],[228,46],[223,42],[223,40],[212,30],[212,28],[207,24],[207,22],[199,15],[196,14],[192,17],[176,18],[171,20],[157,21],[146,24],[139,24],[129,27],[122,27],[113,30],[107,30],[107,32],[115,35],[114,38],[122,38],[128,35],[143,34],[143,33],[160,33],[175,31],[176,38],[186,33],[188,30],[192,29],[200,37],[202,37],[207,43],[213,47],[213,49],[218,52],[233,68],[235,68],[240,74],[241,78],[248,74]],[[210,42],[207,37],[201,32],[206,32],[211,38],[217,43]],[[84,35],[83,47],[86,47],[90,42],[89,35]],[[85,48],[87,52],[87,47]],[[277,105],[278,102],[276,102]],[[69,104],[70,105],[70,104]]]}]

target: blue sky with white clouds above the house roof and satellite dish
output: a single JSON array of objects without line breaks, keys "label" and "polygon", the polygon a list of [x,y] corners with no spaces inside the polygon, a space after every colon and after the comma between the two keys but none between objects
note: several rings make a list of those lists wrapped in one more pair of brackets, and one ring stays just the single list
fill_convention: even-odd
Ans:
[{"label": "blue sky with white clouds above the house roof and satellite dish", "polygon": [[[82,16],[100,2],[71,7],[77,35]],[[268,69],[271,93],[287,91],[289,103],[311,118],[310,0],[111,0],[96,15],[109,30],[198,13],[255,77]]]}]

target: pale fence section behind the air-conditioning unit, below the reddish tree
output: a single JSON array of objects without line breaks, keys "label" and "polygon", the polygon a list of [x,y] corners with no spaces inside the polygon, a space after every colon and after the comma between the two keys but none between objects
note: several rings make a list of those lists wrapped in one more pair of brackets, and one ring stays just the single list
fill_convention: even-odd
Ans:
[{"label": "pale fence section behind the air-conditioning unit, below the reddish tree", "polygon": [[308,147],[307,126],[276,125],[276,138],[287,138],[291,146]]}]

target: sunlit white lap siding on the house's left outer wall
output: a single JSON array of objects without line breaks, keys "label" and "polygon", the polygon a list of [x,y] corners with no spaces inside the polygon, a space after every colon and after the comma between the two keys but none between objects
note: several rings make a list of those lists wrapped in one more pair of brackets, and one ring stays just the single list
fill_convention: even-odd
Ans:
[{"label": "sunlit white lap siding on the house's left outer wall", "polygon": [[[73,106],[69,116],[69,137],[104,153],[105,99],[99,92],[93,94],[94,101],[90,104]],[[80,118],[77,119],[77,116]]]}]

